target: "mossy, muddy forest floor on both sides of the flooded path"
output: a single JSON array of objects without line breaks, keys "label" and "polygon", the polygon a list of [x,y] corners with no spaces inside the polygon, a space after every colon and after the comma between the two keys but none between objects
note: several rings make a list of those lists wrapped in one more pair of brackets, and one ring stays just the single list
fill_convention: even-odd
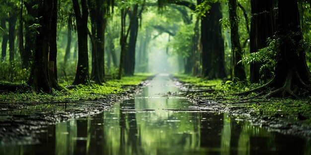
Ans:
[{"label": "mossy, muddy forest floor on both sides of the flooded path", "polygon": [[[36,143],[35,134],[49,124],[94,115],[113,103],[131,98],[151,75],[108,80],[102,86],[78,86],[52,95],[32,92],[0,93],[0,145]],[[261,94],[236,95],[251,89],[242,83],[174,76],[192,107],[229,112],[236,120],[285,134],[311,138],[311,99],[264,99]],[[255,87],[255,86],[253,86]]]}]

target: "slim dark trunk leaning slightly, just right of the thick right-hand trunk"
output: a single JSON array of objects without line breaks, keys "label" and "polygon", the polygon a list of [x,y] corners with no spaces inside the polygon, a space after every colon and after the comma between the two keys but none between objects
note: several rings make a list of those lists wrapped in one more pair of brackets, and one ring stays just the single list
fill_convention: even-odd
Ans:
[{"label": "slim dark trunk leaning slightly, just right of the thick right-hand trunk", "polygon": [[229,17],[231,28],[231,50],[233,53],[233,75],[240,81],[246,80],[246,74],[244,71],[244,65],[238,63],[242,59],[242,48],[238,35],[238,20],[236,14],[237,3],[236,0],[229,0]]}]

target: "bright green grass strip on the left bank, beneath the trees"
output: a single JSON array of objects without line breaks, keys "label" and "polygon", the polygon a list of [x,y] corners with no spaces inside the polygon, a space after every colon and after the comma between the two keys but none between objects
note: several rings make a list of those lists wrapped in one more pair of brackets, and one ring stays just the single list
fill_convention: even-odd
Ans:
[{"label": "bright green grass strip on the left bank, beneath the trees", "polygon": [[78,100],[98,100],[105,98],[109,94],[119,94],[128,89],[129,85],[138,85],[149,77],[148,74],[138,74],[135,76],[123,77],[121,80],[108,80],[103,85],[92,84],[92,86],[78,85],[77,89],[68,91],[55,91],[54,94],[44,94],[35,92],[4,92],[0,94],[2,103],[45,103],[52,101],[68,102]]}]

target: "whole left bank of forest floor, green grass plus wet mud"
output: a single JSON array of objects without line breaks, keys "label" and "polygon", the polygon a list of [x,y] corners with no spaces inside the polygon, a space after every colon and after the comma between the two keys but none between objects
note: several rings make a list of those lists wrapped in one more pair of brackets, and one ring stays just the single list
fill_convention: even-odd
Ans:
[{"label": "whole left bank of forest floor, green grass plus wet mud", "polygon": [[34,92],[0,93],[0,145],[36,143],[34,135],[49,124],[102,112],[136,92],[153,76],[107,80],[103,85],[77,86],[51,95]]}]

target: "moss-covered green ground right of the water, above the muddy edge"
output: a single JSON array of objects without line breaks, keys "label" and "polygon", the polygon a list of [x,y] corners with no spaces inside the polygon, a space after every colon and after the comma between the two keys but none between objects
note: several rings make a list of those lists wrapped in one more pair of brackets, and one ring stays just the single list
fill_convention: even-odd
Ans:
[{"label": "moss-covered green ground right of the water, above the muddy edge", "polygon": [[[205,101],[222,103],[231,109],[247,109],[257,116],[269,115],[287,117],[289,121],[299,121],[303,125],[311,126],[311,97],[300,99],[265,99],[260,93],[239,95],[240,92],[258,87],[259,84],[249,84],[233,81],[206,80],[188,75],[175,75],[188,87],[196,88],[197,92],[189,92],[188,96],[197,97],[204,106]],[[208,104],[206,104],[208,106]]]}]

